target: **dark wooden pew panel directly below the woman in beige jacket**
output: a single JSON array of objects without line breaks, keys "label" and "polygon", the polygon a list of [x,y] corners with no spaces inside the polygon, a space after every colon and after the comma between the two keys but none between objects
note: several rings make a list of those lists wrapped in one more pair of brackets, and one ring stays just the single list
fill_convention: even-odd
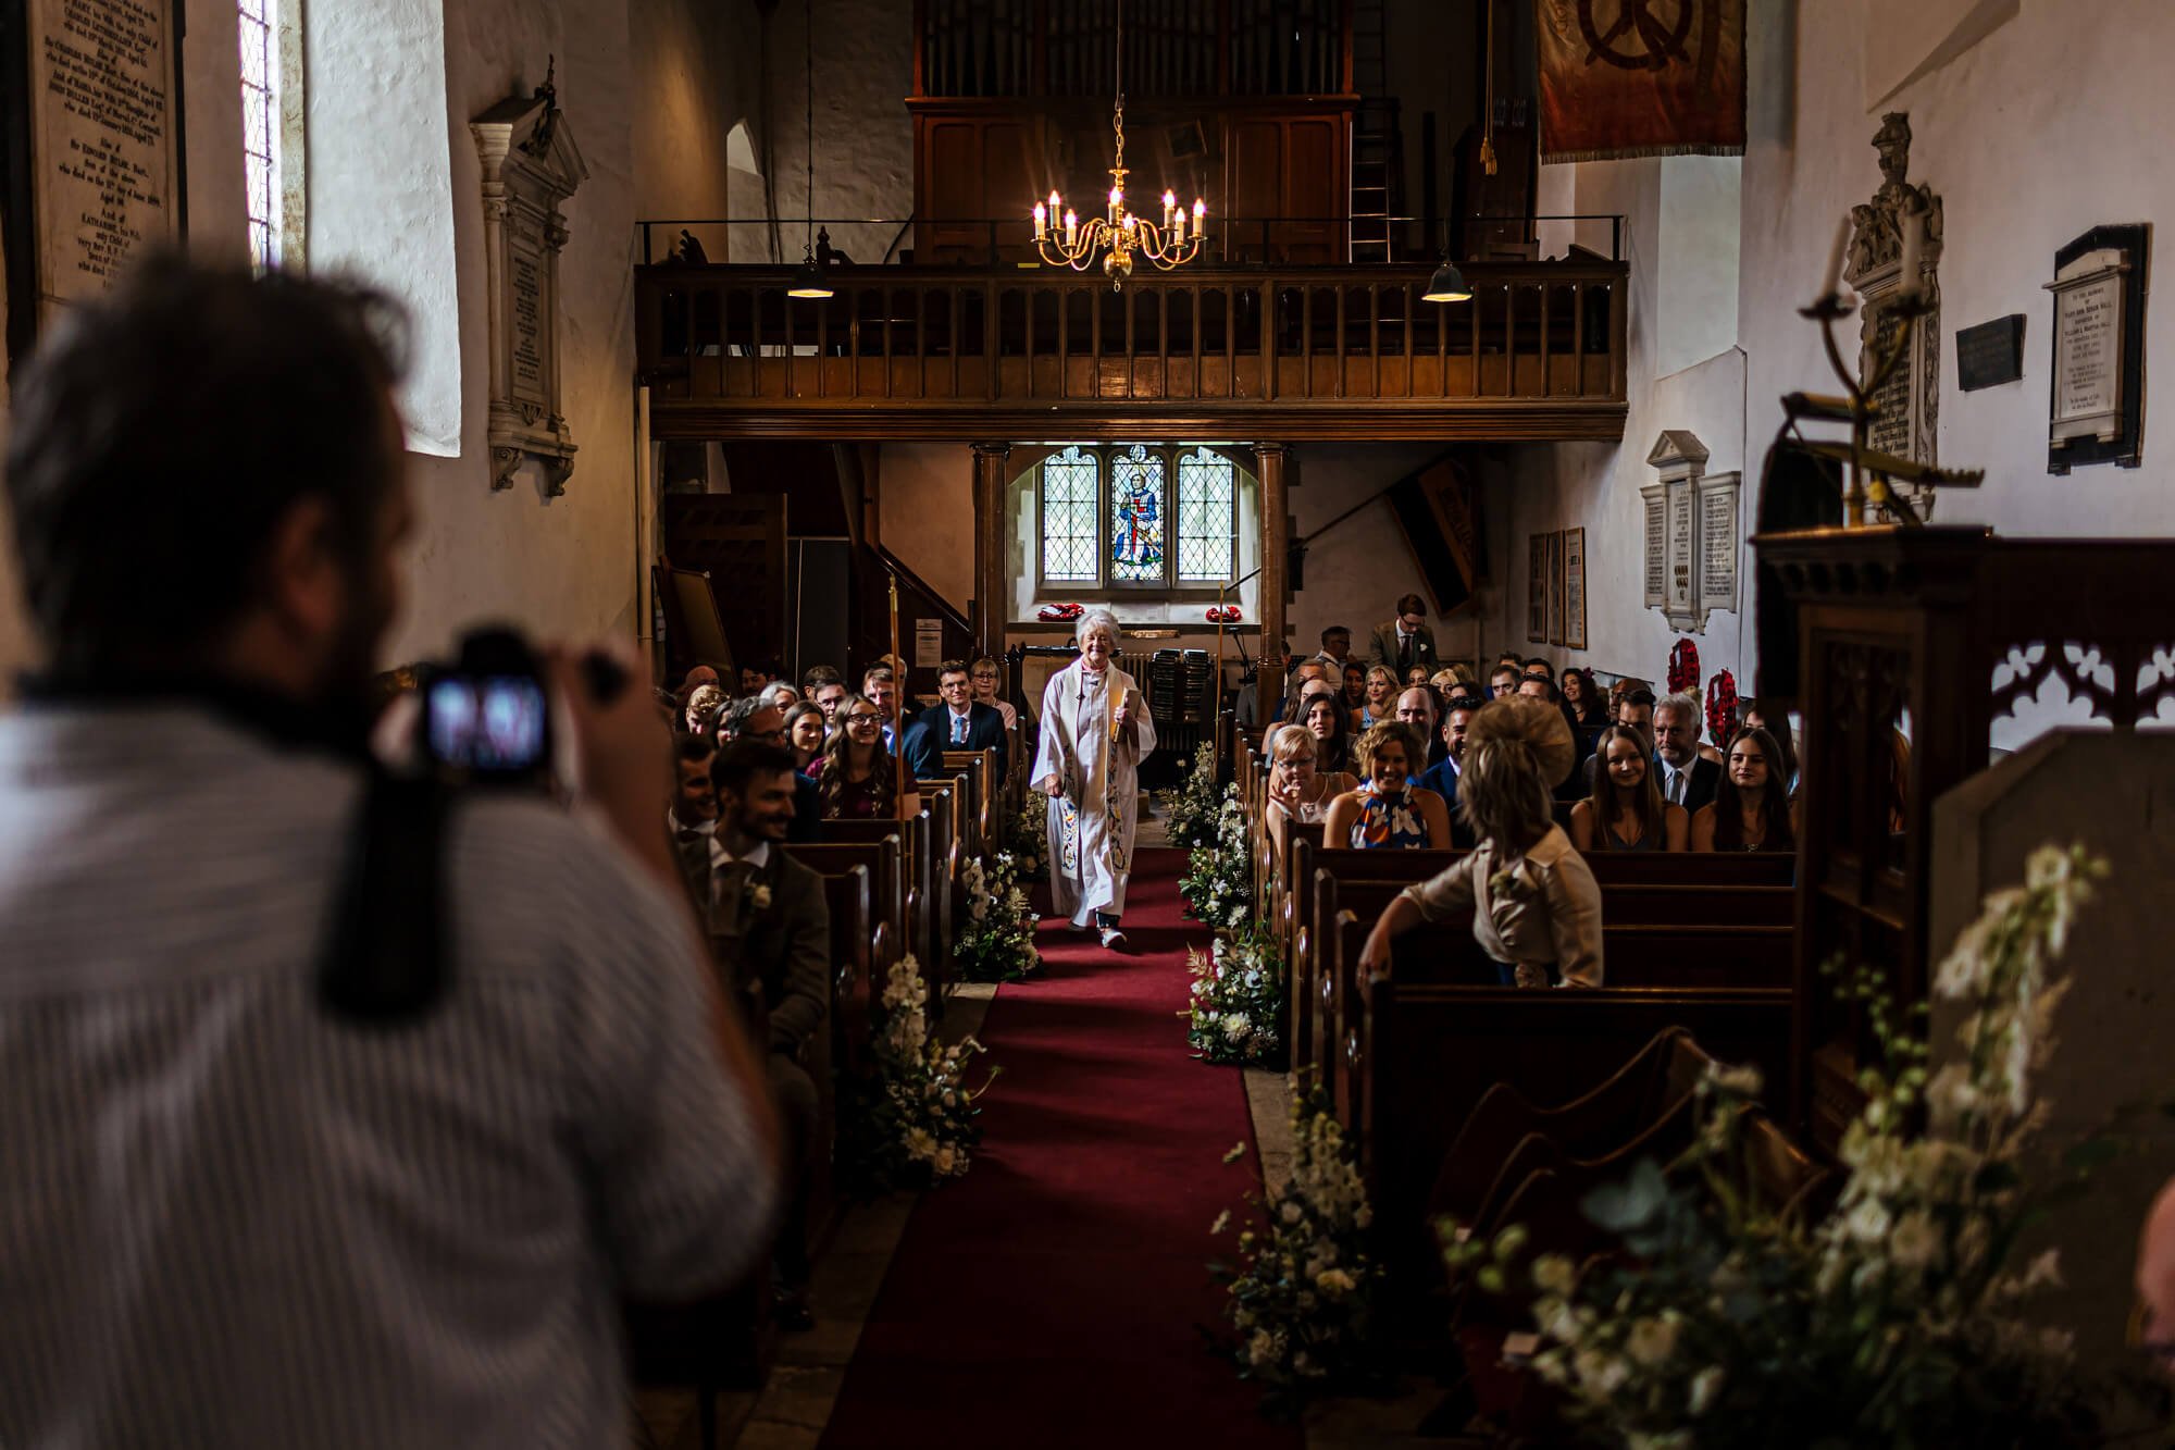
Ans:
[{"label": "dark wooden pew panel directly below the woman in beige jacket", "polygon": [[1451,1139],[1499,1082],[1536,1099],[1601,1084],[1642,1043],[1686,1028],[1714,1058],[1788,1067],[1790,986],[1520,991],[1362,980],[1346,1099],[1392,1274],[1433,1280],[1427,1202]]}]

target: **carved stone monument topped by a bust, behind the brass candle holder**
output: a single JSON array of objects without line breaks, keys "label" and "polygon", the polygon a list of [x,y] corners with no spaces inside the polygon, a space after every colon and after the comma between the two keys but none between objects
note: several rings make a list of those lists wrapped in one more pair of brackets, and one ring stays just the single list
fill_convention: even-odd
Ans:
[{"label": "carved stone monument topped by a bust, behind the brass candle holder", "polygon": [[[1875,329],[1892,333],[1901,327],[1881,314],[1912,283],[1923,292],[1927,314],[1918,320],[1910,359],[1881,388],[1877,398],[1881,411],[1873,420],[1866,442],[1879,453],[1938,464],[1934,435],[1940,414],[1940,198],[1931,187],[1905,181],[1910,170],[1907,113],[1890,111],[1881,118],[1881,128],[1873,135],[1873,150],[1881,157],[1881,185],[1868,202],[1851,207],[1851,261],[1842,272],[1851,290],[1864,298],[1860,359],[1870,359],[1875,353]],[[1903,277],[1905,263],[1914,266],[1916,277]],[[1862,361],[1860,377],[1866,370],[1868,366]],[[1907,483],[1894,488],[1918,507],[1921,518],[1927,516],[1925,509],[1931,507],[1927,490],[1912,490]]]}]

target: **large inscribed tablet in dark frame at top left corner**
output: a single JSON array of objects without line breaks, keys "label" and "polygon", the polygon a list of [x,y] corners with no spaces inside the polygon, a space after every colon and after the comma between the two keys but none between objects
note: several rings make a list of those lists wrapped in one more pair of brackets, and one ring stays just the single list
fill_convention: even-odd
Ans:
[{"label": "large inscribed tablet in dark frame at top left corner", "polygon": [[172,0],[0,0],[9,361],[54,309],[183,237]]}]

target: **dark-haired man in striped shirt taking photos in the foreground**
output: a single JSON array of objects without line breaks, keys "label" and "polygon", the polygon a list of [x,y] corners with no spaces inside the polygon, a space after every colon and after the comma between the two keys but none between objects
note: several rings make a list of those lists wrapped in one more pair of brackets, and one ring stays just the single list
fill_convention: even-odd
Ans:
[{"label": "dark-haired man in striped shirt taking photos in the foreground", "polygon": [[[368,888],[407,799],[363,747],[411,518],[394,329],[159,259],[15,374],[48,673],[0,718],[0,1443],[616,1443],[616,1300],[766,1243],[774,1123],[646,690],[550,651],[583,808],[446,792],[437,919]],[[357,1012],[357,936],[442,964]]]}]

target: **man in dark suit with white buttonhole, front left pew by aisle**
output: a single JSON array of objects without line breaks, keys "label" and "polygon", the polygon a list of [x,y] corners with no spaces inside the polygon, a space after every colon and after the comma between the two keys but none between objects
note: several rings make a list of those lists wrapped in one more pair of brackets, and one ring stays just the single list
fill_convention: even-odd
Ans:
[{"label": "man in dark suit with white buttonhole, front left pew by aisle", "polygon": [[770,1052],[790,1200],[772,1248],[781,1328],[813,1328],[807,1193],[822,1110],[807,1047],[831,1015],[831,910],[822,877],[781,847],[794,819],[794,760],[768,740],[718,751],[718,830],[711,836],[709,943],[726,999],[750,1004]]}]

